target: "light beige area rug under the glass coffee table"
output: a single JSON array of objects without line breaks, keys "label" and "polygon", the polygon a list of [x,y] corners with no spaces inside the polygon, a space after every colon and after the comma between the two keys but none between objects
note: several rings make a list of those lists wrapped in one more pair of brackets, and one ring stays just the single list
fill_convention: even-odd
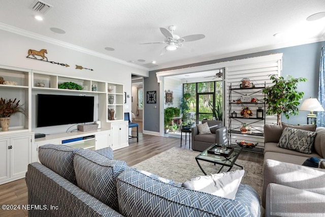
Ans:
[{"label": "light beige area rug under the glass coffee table", "polygon": [[[198,151],[174,147],[136,164],[133,167],[164,178],[172,179],[176,182],[184,182],[190,178],[204,175],[195,160],[198,154],[200,154]],[[205,161],[199,162],[207,174],[217,173],[221,167],[220,165],[214,165],[213,163]],[[236,164],[243,166],[245,170],[245,175],[241,183],[250,185],[255,189],[259,197],[261,197],[263,184],[262,165],[243,160],[237,160]],[[228,169],[229,167],[223,167],[221,172],[225,172]],[[234,165],[231,171],[238,169],[241,168]]]}]

